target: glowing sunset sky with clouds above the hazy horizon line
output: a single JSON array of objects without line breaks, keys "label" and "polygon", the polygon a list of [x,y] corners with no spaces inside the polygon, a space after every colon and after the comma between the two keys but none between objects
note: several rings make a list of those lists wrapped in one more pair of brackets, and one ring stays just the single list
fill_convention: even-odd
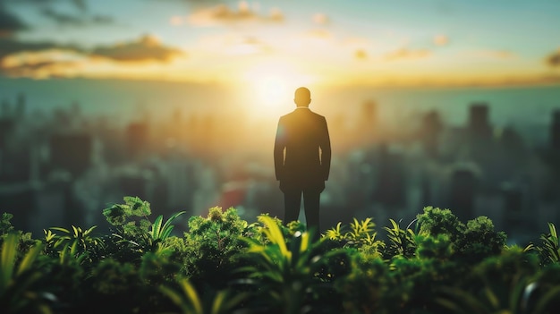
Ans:
[{"label": "glowing sunset sky with clouds above the hazy horizon line", "polygon": [[0,0],[0,73],[261,89],[558,83],[559,14],[558,0]]}]

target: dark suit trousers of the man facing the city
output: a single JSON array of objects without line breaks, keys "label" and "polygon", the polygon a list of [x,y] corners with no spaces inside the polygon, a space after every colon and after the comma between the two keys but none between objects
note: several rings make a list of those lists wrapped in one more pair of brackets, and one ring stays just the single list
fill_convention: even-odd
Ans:
[{"label": "dark suit trousers of the man facing the city", "polygon": [[305,212],[305,221],[307,222],[307,230],[312,228],[315,233],[319,230],[319,197],[321,191],[318,189],[303,189],[284,191],[284,224],[288,224],[294,220],[298,220],[300,216],[301,196],[303,196],[303,209]]}]

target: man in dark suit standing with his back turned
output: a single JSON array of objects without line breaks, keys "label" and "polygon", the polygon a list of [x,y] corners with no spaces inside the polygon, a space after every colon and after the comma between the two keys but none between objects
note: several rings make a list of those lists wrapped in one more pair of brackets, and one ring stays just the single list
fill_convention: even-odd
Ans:
[{"label": "man in dark suit standing with his back turned", "polygon": [[310,89],[295,90],[292,113],[278,121],[274,145],[276,180],[284,192],[284,224],[297,220],[301,196],[308,231],[319,229],[319,197],[331,164],[327,120],[312,112]]}]

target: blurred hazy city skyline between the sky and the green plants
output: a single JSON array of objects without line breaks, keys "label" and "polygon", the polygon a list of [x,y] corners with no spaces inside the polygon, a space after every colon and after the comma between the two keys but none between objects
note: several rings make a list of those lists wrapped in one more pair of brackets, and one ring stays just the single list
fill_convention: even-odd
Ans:
[{"label": "blurred hazy city skyline between the sky and the green plants", "polygon": [[[359,119],[328,115],[333,163],[321,199],[328,229],[353,217],[410,224],[422,208],[450,208],[466,223],[490,217],[510,242],[526,243],[558,223],[560,110],[543,125],[542,145],[529,128],[496,127],[489,103],[472,103],[464,125],[437,110],[385,123],[375,99],[354,104]],[[559,104],[560,108],[560,104]],[[153,216],[237,208],[254,221],[283,216],[272,166],[276,125],[231,114],[175,110],[115,123],[84,115],[79,103],[30,112],[25,94],[0,107],[0,211],[34,234],[50,226],[108,228],[102,209],[138,196]],[[268,132],[263,136],[262,132]]]}]

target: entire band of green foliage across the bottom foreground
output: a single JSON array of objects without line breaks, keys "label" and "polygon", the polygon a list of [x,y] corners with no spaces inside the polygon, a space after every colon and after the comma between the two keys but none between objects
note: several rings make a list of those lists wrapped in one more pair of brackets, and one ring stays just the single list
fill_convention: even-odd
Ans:
[{"label": "entire band of green foliage across the bottom foreground", "polygon": [[[51,227],[44,238],[0,220],[0,305],[6,313],[554,313],[560,307],[556,227],[538,244],[506,246],[487,216],[463,224],[424,208],[416,225],[373,218],[325,235],[299,221],[234,208],[150,221],[125,197],[103,211],[108,234]],[[414,222],[414,221],[413,221]]]}]

